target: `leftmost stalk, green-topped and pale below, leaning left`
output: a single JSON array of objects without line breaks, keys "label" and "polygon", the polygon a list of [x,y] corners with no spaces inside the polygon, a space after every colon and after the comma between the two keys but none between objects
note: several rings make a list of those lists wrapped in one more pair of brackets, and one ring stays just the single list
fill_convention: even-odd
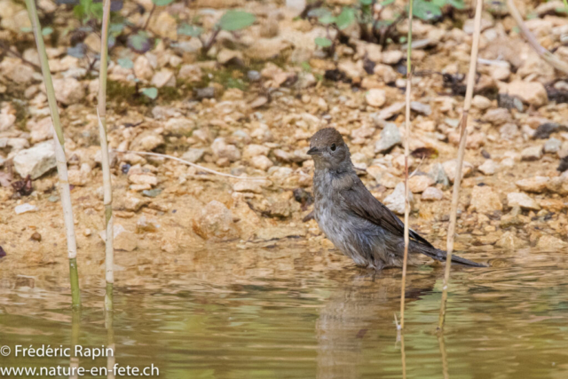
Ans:
[{"label": "leftmost stalk, green-topped and pale below, leaning left", "polygon": [[67,158],[65,156],[65,139],[63,138],[63,128],[59,120],[59,110],[55,99],[55,90],[51,81],[50,66],[47,61],[45,44],[35,0],[26,0],[29,19],[31,20],[34,36],[36,37],[37,52],[42,67],[43,83],[47,94],[47,102],[50,107],[51,121],[53,122],[53,143],[55,146],[55,159],[57,161],[57,171],[59,174],[59,193],[61,195],[61,206],[63,207],[63,218],[67,233],[67,257],[69,258],[69,279],[71,282],[71,301],[74,308],[81,306],[81,292],[79,289],[79,272],[77,270],[77,243],[75,241],[75,224],[73,218],[73,207],[71,206],[71,190],[67,176]]}]

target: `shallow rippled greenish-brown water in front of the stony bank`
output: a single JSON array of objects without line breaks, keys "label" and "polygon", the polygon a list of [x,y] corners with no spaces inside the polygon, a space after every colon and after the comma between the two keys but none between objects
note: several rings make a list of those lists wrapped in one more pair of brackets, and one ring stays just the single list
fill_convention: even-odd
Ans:
[{"label": "shallow rippled greenish-brown water in front of the stony bank", "polygon": [[[408,273],[408,378],[568,377],[566,251],[490,252],[487,269],[452,275],[447,327],[438,321],[441,265]],[[401,272],[371,274],[304,246],[235,247],[117,256],[115,361],[154,364],[167,378],[400,378]],[[2,367],[69,366],[69,358],[15,358],[16,345],[100,347],[102,252],[79,262],[83,311],[69,310],[67,267],[0,261]],[[80,358],[106,367],[106,358]]]}]

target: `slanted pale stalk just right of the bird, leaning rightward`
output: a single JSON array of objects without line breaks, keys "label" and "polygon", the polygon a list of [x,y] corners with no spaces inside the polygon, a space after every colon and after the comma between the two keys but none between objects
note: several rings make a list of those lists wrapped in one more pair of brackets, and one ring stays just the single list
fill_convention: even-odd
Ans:
[{"label": "slanted pale stalk just right of the bird, leaning rightward", "polygon": [[438,319],[438,330],[444,328],[446,321],[447,288],[450,282],[450,271],[452,270],[452,253],[454,252],[455,224],[457,222],[458,202],[460,201],[461,186],[461,166],[465,155],[465,145],[468,138],[468,115],[473,98],[473,87],[476,78],[477,51],[479,50],[479,34],[481,31],[481,12],[483,10],[483,0],[477,0],[476,16],[474,20],[473,42],[471,43],[471,56],[469,58],[468,86],[465,92],[465,102],[461,114],[460,123],[460,146],[458,148],[458,159],[455,165],[454,193],[452,193],[452,209],[450,210],[450,225],[447,231],[447,257],[446,271],[444,272],[444,286],[442,288],[442,304],[440,305],[440,315]]}]

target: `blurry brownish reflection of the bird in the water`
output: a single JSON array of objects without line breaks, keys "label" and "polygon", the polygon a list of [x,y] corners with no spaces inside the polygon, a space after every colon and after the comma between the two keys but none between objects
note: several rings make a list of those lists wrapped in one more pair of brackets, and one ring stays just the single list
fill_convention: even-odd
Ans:
[{"label": "blurry brownish reflection of the bird in the water", "polygon": [[[355,275],[343,275],[334,278],[343,285],[329,296],[316,322],[318,379],[362,377],[359,368],[367,366],[369,359],[364,344],[368,347],[370,341],[385,345],[396,341],[394,314],[400,306],[401,272],[361,270]],[[436,280],[431,272],[409,272],[407,302],[419,301],[422,294],[431,293]],[[377,330],[392,330],[392,336],[378,336]],[[400,347],[404,348],[402,341]]]}]

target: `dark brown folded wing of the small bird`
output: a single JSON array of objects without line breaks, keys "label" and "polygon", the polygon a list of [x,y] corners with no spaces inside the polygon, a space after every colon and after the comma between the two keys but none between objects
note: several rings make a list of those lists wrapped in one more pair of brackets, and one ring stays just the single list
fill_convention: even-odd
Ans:
[{"label": "dark brown folded wing of the small bird", "polygon": [[[359,178],[357,178],[359,179]],[[383,227],[390,233],[404,236],[405,225],[400,219],[390,211],[381,201],[375,199],[360,180],[353,180],[349,188],[339,192],[347,209],[355,212],[359,217],[363,217],[375,225]],[[412,229],[408,231],[408,236],[423,245],[432,247],[420,234]]]}]

